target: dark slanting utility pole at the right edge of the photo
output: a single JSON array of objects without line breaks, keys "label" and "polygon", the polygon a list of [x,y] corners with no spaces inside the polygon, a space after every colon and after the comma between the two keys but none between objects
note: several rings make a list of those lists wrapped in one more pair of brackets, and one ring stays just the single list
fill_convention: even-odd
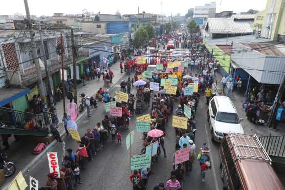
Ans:
[{"label": "dark slanting utility pole at the right edge of the photo", "polygon": [[271,128],[272,124],[274,123],[274,125],[273,125],[273,129],[274,130],[276,130],[276,127],[277,127],[277,122],[278,121],[275,120],[275,117],[276,117],[276,113],[277,113],[277,109],[278,109],[278,105],[279,105],[281,96],[282,96],[282,94],[285,91],[285,87],[284,86],[285,86],[285,76],[283,76],[283,81],[280,83],[278,92],[276,94],[276,97],[275,97],[275,100],[274,100],[274,103],[273,103],[273,108],[272,108],[271,114],[269,116],[269,122],[268,122],[269,128]]}]

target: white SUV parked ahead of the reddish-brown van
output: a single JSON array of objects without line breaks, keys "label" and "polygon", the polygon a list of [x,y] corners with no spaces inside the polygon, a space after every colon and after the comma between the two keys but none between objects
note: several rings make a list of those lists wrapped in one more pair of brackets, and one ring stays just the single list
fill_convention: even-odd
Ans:
[{"label": "white SUV parked ahead of the reddish-brown van", "polygon": [[244,133],[240,118],[231,99],[227,96],[214,96],[210,100],[207,118],[213,141],[221,142],[230,132]]}]

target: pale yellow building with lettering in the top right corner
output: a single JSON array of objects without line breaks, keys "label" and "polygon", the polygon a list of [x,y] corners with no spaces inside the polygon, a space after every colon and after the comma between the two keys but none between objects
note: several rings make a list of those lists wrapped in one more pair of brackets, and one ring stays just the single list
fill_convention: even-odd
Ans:
[{"label": "pale yellow building with lettering in the top right corner", "polygon": [[266,9],[255,14],[256,36],[285,41],[285,0],[268,0]]}]

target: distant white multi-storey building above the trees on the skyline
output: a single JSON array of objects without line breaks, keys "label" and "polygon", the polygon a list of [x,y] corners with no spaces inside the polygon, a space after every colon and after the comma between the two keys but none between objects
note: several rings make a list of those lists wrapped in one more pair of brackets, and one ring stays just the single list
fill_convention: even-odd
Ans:
[{"label": "distant white multi-storey building above the trees on the skyline", "polygon": [[204,6],[195,6],[193,18],[214,18],[216,13],[216,3],[207,3]]}]

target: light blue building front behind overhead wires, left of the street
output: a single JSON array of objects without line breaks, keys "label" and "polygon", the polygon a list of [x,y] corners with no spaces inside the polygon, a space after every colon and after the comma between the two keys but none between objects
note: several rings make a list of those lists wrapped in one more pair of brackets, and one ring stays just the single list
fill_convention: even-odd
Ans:
[{"label": "light blue building front behind overhead wires, left of the street", "polygon": [[100,56],[100,63],[102,66],[106,67],[103,64],[103,57],[108,57],[108,55],[113,54],[113,48],[111,45],[111,39],[106,40],[105,42],[100,42],[98,44],[92,45],[90,48],[90,58]]}]

